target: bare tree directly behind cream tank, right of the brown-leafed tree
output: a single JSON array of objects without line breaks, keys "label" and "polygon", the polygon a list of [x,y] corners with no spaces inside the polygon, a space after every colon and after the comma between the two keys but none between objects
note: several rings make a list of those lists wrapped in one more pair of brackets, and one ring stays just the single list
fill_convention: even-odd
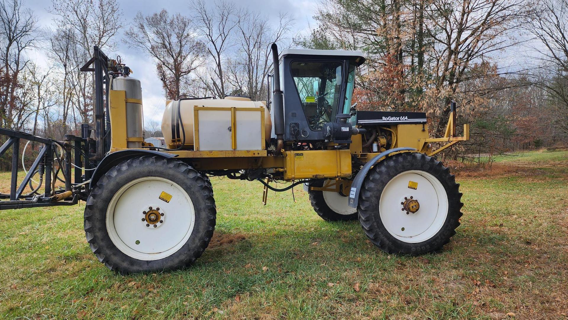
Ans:
[{"label": "bare tree directly behind cream tank, right of the brown-leafed tree", "polygon": [[204,0],[190,2],[189,9],[193,16],[191,20],[204,39],[207,52],[213,60],[212,67],[199,76],[204,89],[212,92],[215,97],[224,98],[227,88],[227,75],[224,65],[227,61],[225,53],[232,46],[233,30],[239,24],[239,15],[235,15],[234,3],[219,0],[210,6]]}]

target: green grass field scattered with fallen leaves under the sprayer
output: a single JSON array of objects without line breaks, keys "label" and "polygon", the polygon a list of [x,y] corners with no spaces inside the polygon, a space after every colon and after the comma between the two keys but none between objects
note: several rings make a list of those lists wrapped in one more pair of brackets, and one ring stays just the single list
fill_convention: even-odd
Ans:
[{"label": "green grass field scattered with fallen leaves under the sprayer", "polygon": [[458,175],[457,235],[420,257],[379,251],[358,222],[324,222],[302,188],[262,206],[258,182],[212,180],[210,247],[150,275],[95,259],[82,204],[1,211],[0,318],[568,318],[568,152],[498,160],[513,169]]}]

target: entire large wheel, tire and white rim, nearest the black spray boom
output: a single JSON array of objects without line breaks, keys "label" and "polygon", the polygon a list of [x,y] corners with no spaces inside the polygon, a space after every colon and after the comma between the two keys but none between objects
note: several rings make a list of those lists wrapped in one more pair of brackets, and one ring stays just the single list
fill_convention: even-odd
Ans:
[{"label": "entire large wheel, tire and white rim, nearest the black spray boom", "polygon": [[94,187],[85,206],[85,235],[101,263],[119,273],[186,267],[215,228],[211,185],[181,161],[126,160]]}]

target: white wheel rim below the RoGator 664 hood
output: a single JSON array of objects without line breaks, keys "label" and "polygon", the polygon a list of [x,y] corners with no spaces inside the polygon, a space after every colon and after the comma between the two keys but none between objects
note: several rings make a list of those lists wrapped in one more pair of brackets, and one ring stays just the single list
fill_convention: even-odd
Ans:
[{"label": "white wheel rim below the RoGator 664 hood", "polygon": [[[416,190],[409,188],[416,182]],[[412,184],[414,185],[414,184]],[[405,197],[413,197],[420,204],[416,213],[403,209]],[[420,170],[399,173],[392,178],[381,194],[379,202],[381,222],[396,239],[418,243],[435,236],[448,217],[448,195],[444,186],[432,174]]]}]

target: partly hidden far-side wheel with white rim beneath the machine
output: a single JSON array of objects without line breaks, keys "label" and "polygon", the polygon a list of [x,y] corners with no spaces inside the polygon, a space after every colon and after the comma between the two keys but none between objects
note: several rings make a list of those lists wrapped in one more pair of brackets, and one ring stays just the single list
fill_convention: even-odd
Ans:
[{"label": "partly hidden far-side wheel with white rim beneath the machine", "polygon": [[[311,182],[310,186],[322,187],[332,180]],[[325,221],[351,221],[357,219],[357,209],[348,205],[349,195],[337,192],[310,190],[310,202],[314,211]]]}]

